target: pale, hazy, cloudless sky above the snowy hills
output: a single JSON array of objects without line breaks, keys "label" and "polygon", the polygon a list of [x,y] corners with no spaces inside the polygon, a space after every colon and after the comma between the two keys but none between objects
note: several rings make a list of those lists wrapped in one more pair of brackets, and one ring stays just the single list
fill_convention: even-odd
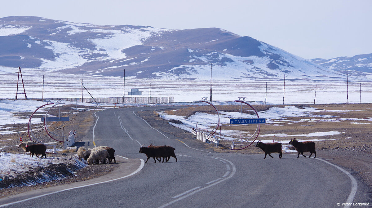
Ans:
[{"label": "pale, hazy, cloudless sky above the snowy hills", "polygon": [[0,17],[221,28],[306,59],[372,53],[372,0],[6,0]]}]

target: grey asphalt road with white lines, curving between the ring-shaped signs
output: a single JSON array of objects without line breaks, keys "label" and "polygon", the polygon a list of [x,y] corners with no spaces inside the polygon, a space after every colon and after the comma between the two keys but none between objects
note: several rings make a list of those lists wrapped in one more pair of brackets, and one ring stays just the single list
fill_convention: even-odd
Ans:
[{"label": "grey asphalt road with white lines, curving between the ring-shaped signs", "polygon": [[[4,207],[22,208],[344,207],[345,202],[367,201],[365,190],[357,189],[358,180],[324,160],[296,159],[292,154],[279,159],[276,153],[274,159],[263,159],[264,154],[211,153],[202,149],[201,141],[160,132],[136,115],[142,109],[161,108],[169,107],[96,113],[97,122],[85,142],[116,150],[122,166],[111,174],[23,193],[1,199],[0,204],[16,202]],[[144,164],[147,157],[138,151],[142,144],[151,143],[174,147],[178,161],[171,157],[167,163],[154,163],[150,158]]]}]

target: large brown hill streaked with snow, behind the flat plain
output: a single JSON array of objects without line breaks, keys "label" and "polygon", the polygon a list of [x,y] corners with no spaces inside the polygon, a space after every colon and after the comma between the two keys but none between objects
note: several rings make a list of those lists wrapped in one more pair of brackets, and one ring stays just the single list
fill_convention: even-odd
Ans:
[{"label": "large brown hill streaked with snow, behind the flat plain", "polygon": [[[0,73],[17,67],[138,79],[344,80],[346,75],[219,28],[171,30],[0,18]],[[2,67],[1,67],[2,66]],[[12,68],[12,70],[9,70]]]}]

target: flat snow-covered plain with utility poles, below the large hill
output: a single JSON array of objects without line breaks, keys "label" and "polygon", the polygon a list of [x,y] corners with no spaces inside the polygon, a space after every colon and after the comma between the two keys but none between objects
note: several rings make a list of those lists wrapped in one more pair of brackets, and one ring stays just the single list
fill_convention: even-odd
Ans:
[{"label": "flat snow-covered plain with utility poles, below the large hill", "polygon": [[[15,68],[0,69],[0,99],[15,98],[17,87],[17,70]],[[26,71],[23,74],[25,90],[29,98],[42,98],[44,75],[44,98],[81,97],[81,79],[84,86],[93,97],[122,97],[122,77],[98,77],[74,74],[62,74],[47,71]],[[125,96],[131,89],[138,88],[142,96],[173,96],[175,102],[193,102],[201,100],[201,97],[209,97],[210,80],[150,80],[125,78]],[[212,100],[234,101],[238,97],[246,97],[246,100],[257,100],[270,104],[283,104],[283,92],[285,104],[297,103],[371,103],[372,83],[357,82],[349,79],[349,86],[346,80],[340,81],[292,81],[286,78],[285,90],[283,81],[263,80],[213,80],[212,77]],[[105,84],[102,84],[105,83]],[[315,95],[315,85],[317,91]],[[348,92],[347,92],[348,90]],[[23,93],[20,85],[19,93]],[[267,94],[266,94],[267,92]],[[84,90],[84,97],[90,97]],[[348,99],[346,100],[346,97]],[[24,98],[24,95],[18,95]]]}]

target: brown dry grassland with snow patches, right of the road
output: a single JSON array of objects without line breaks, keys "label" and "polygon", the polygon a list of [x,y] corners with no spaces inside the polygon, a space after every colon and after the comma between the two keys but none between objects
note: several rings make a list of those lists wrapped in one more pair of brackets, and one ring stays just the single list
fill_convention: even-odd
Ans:
[{"label": "brown dry grassland with snow patches, right of the road", "polygon": [[[287,105],[254,105],[257,111],[266,111],[271,107],[284,107]],[[289,105],[304,109],[304,107],[312,107],[317,109],[317,112],[309,116],[301,117],[286,117],[276,124],[261,124],[260,135],[266,134],[287,134],[287,135],[308,135],[314,132],[338,131],[341,134],[311,137],[312,139],[325,139],[327,141],[317,141],[317,149],[344,148],[355,149],[371,153],[372,142],[372,104],[324,104],[324,105]],[[216,106],[218,111],[240,112],[240,105],[224,105]],[[243,113],[254,113],[247,105],[243,105]],[[331,111],[325,111],[331,110]],[[215,113],[212,106],[192,106],[183,108],[178,111],[166,111],[171,115],[191,116],[196,112]],[[324,118],[327,117],[327,118]],[[362,121],[361,121],[362,120]],[[215,125],[215,124],[211,124]],[[214,127],[214,126],[213,126]],[[211,127],[211,128],[213,128]],[[221,125],[223,130],[243,131],[243,140],[249,138],[256,130],[257,125]],[[218,129],[219,130],[219,129]],[[215,135],[218,134],[216,132]],[[294,137],[278,137],[276,141],[290,140]],[[309,139],[307,136],[296,136],[298,140]],[[239,139],[238,137],[236,138]],[[260,140],[272,140],[272,136],[259,137]],[[331,140],[338,139],[338,140]],[[216,151],[227,152],[231,147],[230,140],[222,140],[222,150],[219,148]],[[246,143],[247,145],[249,143]],[[252,145],[253,146],[253,145]],[[244,147],[244,146],[242,146]],[[235,147],[237,148],[237,147]],[[231,151],[231,150],[230,150]],[[261,153],[257,148],[246,148],[245,153]]]}]

